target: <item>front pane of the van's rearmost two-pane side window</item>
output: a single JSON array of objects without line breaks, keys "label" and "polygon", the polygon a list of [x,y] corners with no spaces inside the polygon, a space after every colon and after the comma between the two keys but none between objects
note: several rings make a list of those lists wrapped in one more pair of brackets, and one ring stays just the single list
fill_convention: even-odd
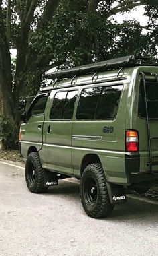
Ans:
[{"label": "front pane of the van's rearmost two-pane side window", "polygon": [[94,119],[100,92],[101,87],[82,90],[76,113],[77,119]]}]

